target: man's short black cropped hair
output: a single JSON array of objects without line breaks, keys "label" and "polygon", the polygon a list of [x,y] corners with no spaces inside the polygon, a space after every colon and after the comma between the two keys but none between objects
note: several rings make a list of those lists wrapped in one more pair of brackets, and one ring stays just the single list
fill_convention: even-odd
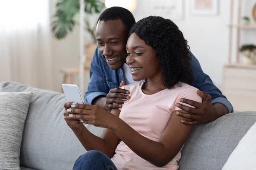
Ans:
[{"label": "man's short black cropped hair", "polygon": [[136,23],[133,14],[128,9],[119,6],[113,6],[111,8],[105,9],[105,11],[103,11],[99,16],[98,22],[118,19],[120,19],[125,25],[128,33],[131,27]]}]

